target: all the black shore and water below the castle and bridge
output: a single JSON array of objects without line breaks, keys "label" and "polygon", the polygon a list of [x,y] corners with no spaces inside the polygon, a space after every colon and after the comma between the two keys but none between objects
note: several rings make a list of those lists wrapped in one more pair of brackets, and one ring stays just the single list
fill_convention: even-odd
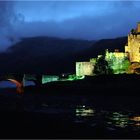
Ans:
[{"label": "all the black shore and water below the castle and bridge", "polygon": [[140,138],[139,79],[0,90],[0,138]]}]

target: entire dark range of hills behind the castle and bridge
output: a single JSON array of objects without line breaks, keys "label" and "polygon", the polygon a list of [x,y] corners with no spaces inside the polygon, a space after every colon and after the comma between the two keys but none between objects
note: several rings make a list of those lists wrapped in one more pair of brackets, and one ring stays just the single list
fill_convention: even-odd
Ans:
[{"label": "entire dark range of hills behind the castle and bridge", "polygon": [[75,62],[86,61],[105,49],[123,50],[126,37],[99,41],[60,39],[53,37],[23,38],[0,53],[0,72],[75,73]]}]

